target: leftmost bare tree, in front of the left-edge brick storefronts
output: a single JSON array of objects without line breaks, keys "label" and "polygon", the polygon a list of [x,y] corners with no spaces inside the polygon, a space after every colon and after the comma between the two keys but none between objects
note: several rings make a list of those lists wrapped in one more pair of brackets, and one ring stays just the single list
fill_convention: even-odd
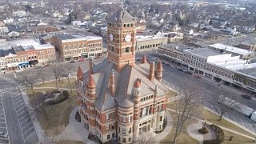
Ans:
[{"label": "leftmost bare tree, in front of the left-edge brick storefronts", "polygon": [[26,86],[26,88],[29,88],[34,95],[34,86],[38,82],[38,76],[32,74],[32,70],[22,71],[18,81],[21,82],[23,86]]}]

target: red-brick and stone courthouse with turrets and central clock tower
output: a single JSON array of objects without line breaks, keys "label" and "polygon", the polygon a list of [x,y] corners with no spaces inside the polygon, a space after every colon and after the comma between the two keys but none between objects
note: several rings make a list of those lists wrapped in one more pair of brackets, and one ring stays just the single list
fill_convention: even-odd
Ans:
[{"label": "red-brick and stone courthouse with turrets and central clock tower", "polygon": [[108,58],[85,74],[78,68],[77,92],[82,123],[101,142],[117,138],[132,143],[143,132],[162,130],[167,92],[162,85],[162,62],[142,58],[135,64],[135,19],[117,10],[108,22]]}]

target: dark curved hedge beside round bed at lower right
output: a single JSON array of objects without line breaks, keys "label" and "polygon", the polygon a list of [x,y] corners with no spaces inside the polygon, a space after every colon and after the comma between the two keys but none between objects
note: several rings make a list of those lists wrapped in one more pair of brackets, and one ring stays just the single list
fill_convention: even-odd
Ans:
[{"label": "dark curved hedge beside round bed at lower right", "polygon": [[205,140],[205,141],[203,141],[203,144],[219,144],[219,143],[222,143],[223,140],[224,140],[223,130],[220,127],[218,127],[214,124],[211,125],[211,128],[217,132],[217,138],[212,139],[212,140]]}]

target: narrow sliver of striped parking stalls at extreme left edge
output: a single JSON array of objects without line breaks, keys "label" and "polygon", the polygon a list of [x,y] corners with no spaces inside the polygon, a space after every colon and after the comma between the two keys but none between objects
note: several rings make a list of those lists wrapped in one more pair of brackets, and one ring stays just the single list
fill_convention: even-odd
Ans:
[{"label": "narrow sliver of striped parking stalls at extreme left edge", "polygon": [[4,132],[7,134],[7,138],[0,137],[0,143],[8,143],[9,136],[8,136],[8,130],[6,125],[6,114],[2,104],[2,94],[0,94],[0,132]]}]

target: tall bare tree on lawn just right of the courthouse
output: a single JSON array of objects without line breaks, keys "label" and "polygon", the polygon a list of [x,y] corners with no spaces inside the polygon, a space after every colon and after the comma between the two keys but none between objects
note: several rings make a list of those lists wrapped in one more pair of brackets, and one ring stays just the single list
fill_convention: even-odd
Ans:
[{"label": "tall bare tree on lawn just right of the courthouse", "polygon": [[198,113],[200,105],[200,97],[202,91],[196,88],[191,90],[182,90],[180,92],[182,98],[175,101],[175,110],[177,114],[177,121],[174,122],[174,143],[176,143],[178,135],[182,132],[183,126]]}]

